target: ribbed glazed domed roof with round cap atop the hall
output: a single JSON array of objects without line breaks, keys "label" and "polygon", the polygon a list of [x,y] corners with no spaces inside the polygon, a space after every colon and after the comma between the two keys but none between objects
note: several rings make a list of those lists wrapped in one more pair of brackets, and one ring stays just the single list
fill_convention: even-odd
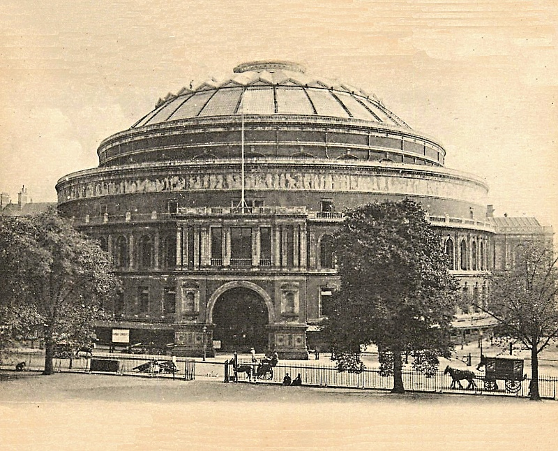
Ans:
[{"label": "ribbed glazed domed roof with round cap atop the hall", "polygon": [[305,115],[361,119],[409,128],[376,96],[306,74],[287,61],[253,61],[234,68],[227,80],[206,80],[159,99],[133,128],[195,117],[234,114]]}]

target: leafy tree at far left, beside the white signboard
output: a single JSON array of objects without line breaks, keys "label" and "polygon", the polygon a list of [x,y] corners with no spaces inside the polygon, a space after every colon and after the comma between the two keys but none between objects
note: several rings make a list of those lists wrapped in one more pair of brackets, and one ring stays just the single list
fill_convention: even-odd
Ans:
[{"label": "leafy tree at far left, beside the white signboard", "polygon": [[119,288],[107,253],[55,211],[2,220],[0,274],[6,281],[0,288],[0,323],[12,333],[29,322],[42,325],[43,374],[54,372],[56,341],[91,339],[93,320],[103,316],[103,301]]}]

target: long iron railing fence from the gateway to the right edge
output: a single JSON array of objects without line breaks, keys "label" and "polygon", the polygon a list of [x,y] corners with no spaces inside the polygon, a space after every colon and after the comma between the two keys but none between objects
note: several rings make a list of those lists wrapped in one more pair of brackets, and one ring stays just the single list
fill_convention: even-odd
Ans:
[{"label": "long iron railing fence from the gateway to the right edge", "polygon": [[[254,372],[256,366],[250,360],[239,359],[240,365],[252,365]],[[225,364],[226,366],[227,364]],[[228,371],[227,371],[228,370]],[[313,364],[297,365],[280,362],[273,368],[273,374],[255,376],[257,382],[281,384],[286,374],[294,379],[299,374],[303,385],[315,387],[339,387],[339,388],[362,388],[375,390],[391,390],[393,388],[393,376],[382,376],[379,369],[365,369],[360,374],[338,371],[333,366]],[[225,374],[234,376],[232,365],[225,369]],[[507,383],[505,380],[497,380],[497,390],[488,390],[485,381],[477,376],[474,380],[476,386],[467,389],[467,380],[462,380],[463,388],[451,388],[452,378],[445,375],[442,371],[437,371],[432,377],[427,377],[420,371],[405,370],[402,374],[403,385],[409,392],[438,392],[438,393],[463,393],[463,394],[489,394],[499,396],[528,397],[530,378],[525,378],[514,384]],[[246,372],[239,373],[240,382],[248,381]],[[541,397],[546,399],[556,399],[558,378],[552,376],[539,376],[538,390]]]}]

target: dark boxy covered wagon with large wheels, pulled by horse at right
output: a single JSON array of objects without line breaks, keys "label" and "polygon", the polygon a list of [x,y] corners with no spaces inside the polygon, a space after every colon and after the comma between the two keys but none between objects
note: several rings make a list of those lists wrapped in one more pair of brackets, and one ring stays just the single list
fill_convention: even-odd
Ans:
[{"label": "dark boxy covered wagon with large wheels, pulled by horse at right", "polygon": [[486,357],[481,355],[481,363],[476,369],[485,367],[485,390],[498,390],[497,380],[504,380],[506,392],[517,393],[521,390],[521,383],[526,374],[523,374],[523,360],[509,357]]}]

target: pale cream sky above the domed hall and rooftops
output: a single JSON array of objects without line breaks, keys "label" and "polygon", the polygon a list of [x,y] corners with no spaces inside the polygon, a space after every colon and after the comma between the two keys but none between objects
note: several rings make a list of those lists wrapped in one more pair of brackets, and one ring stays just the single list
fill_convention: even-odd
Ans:
[{"label": "pale cream sky above the domed hall and rooftops", "polygon": [[558,231],[557,32],[555,0],[0,0],[0,191],[55,201],[158,98],[282,59],[376,94],[497,216]]}]

